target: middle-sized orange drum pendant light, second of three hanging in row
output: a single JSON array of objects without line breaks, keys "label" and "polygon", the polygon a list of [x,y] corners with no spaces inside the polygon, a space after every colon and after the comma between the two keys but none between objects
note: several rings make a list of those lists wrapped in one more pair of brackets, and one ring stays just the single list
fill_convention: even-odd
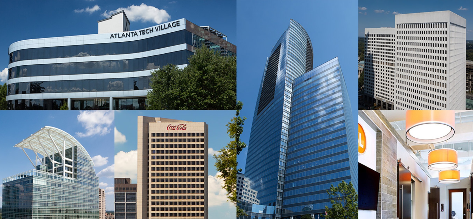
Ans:
[{"label": "middle-sized orange drum pendant light, second of three hanging in row", "polygon": [[458,167],[458,154],[455,149],[438,148],[429,151],[429,169],[447,170]]}]

